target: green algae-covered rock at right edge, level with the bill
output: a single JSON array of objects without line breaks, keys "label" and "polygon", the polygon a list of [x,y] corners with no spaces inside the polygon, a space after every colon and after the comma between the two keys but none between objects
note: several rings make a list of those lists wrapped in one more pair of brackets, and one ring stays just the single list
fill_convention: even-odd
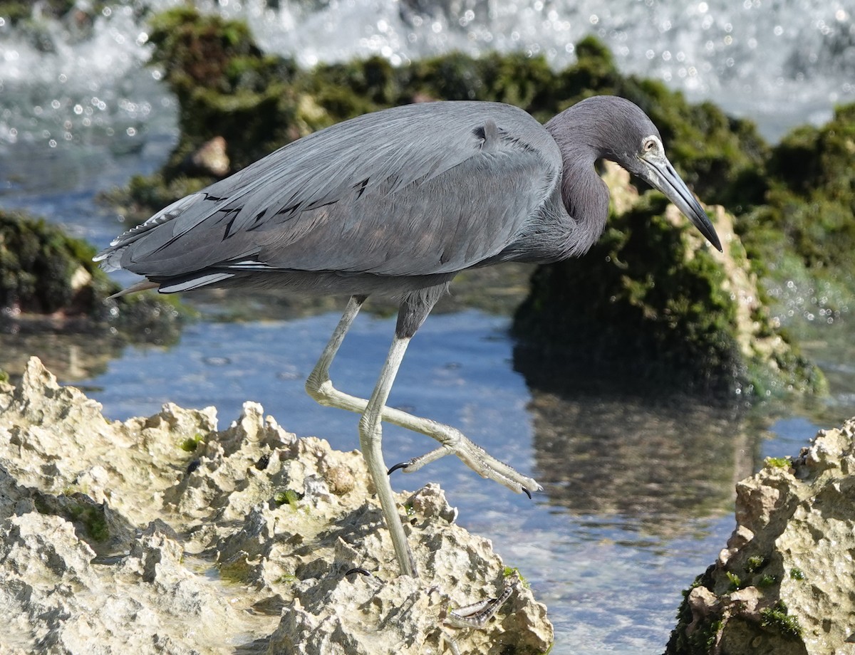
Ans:
[{"label": "green algae-covered rock at right edge, level with the bill", "polygon": [[[740,217],[740,234],[775,296],[787,284],[811,298],[809,318],[849,311],[855,289],[855,104],[821,127],[801,126],[771,150],[767,190]],[[810,289],[810,290],[809,290]]]}]

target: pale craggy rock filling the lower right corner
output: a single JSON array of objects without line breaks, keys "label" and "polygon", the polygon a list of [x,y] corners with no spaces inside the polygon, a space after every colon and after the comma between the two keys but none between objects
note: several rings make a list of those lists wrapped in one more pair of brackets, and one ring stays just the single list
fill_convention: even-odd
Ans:
[{"label": "pale craggy rock filling the lower right corner", "polygon": [[736,529],[687,592],[668,652],[855,652],[855,418],[736,493]]}]

